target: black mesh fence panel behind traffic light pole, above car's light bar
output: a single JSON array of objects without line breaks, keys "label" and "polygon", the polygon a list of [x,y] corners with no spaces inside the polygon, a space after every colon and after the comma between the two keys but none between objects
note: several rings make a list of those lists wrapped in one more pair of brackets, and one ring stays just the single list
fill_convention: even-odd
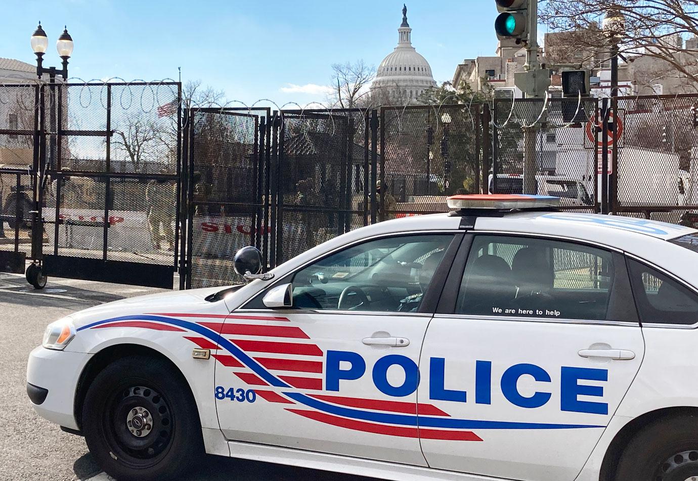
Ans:
[{"label": "black mesh fence panel behind traffic light pole, above car's light bar", "polygon": [[489,193],[554,195],[563,209],[593,212],[597,149],[587,140],[597,101],[496,99],[494,167]]}]

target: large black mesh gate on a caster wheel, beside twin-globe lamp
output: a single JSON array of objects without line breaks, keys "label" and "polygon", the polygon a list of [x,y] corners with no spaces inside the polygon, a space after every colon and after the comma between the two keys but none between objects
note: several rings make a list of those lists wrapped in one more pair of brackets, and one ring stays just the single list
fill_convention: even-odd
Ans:
[{"label": "large black mesh gate on a caster wheel, beside twin-globe lamp", "polygon": [[[34,242],[46,276],[172,288],[178,82],[42,87]],[[164,104],[164,106],[163,106]]]}]

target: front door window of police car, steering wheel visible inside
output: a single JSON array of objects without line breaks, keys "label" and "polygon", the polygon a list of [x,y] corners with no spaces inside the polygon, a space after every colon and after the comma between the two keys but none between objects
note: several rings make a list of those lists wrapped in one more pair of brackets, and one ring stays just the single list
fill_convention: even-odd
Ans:
[{"label": "front door window of police car, steering wheel visible inside", "polygon": [[452,235],[410,235],[351,246],[299,270],[296,309],[416,312]]}]

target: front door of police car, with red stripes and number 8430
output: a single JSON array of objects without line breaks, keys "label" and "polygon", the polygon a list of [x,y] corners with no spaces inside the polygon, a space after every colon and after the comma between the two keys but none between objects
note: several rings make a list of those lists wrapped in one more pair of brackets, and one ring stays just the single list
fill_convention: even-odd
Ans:
[{"label": "front door of police car, with red stripes and number 8430", "polygon": [[[424,466],[419,350],[438,299],[429,288],[440,291],[450,262],[438,266],[461,239],[429,233],[348,246],[234,311],[221,333],[235,352],[216,366],[223,434]],[[289,284],[293,306],[270,309],[274,293]]]}]

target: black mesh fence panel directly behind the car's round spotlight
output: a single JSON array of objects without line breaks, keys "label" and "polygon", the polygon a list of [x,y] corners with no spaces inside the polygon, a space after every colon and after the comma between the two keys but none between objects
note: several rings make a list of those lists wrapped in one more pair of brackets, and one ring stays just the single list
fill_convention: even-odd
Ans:
[{"label": "black mesh fence panel directly behind the car's round spotlight", "polygon": [[197,108],[187,116],[188,225],[184,288],[242,279],[232,259],[252,245],[269,254],[269,109]]}]

